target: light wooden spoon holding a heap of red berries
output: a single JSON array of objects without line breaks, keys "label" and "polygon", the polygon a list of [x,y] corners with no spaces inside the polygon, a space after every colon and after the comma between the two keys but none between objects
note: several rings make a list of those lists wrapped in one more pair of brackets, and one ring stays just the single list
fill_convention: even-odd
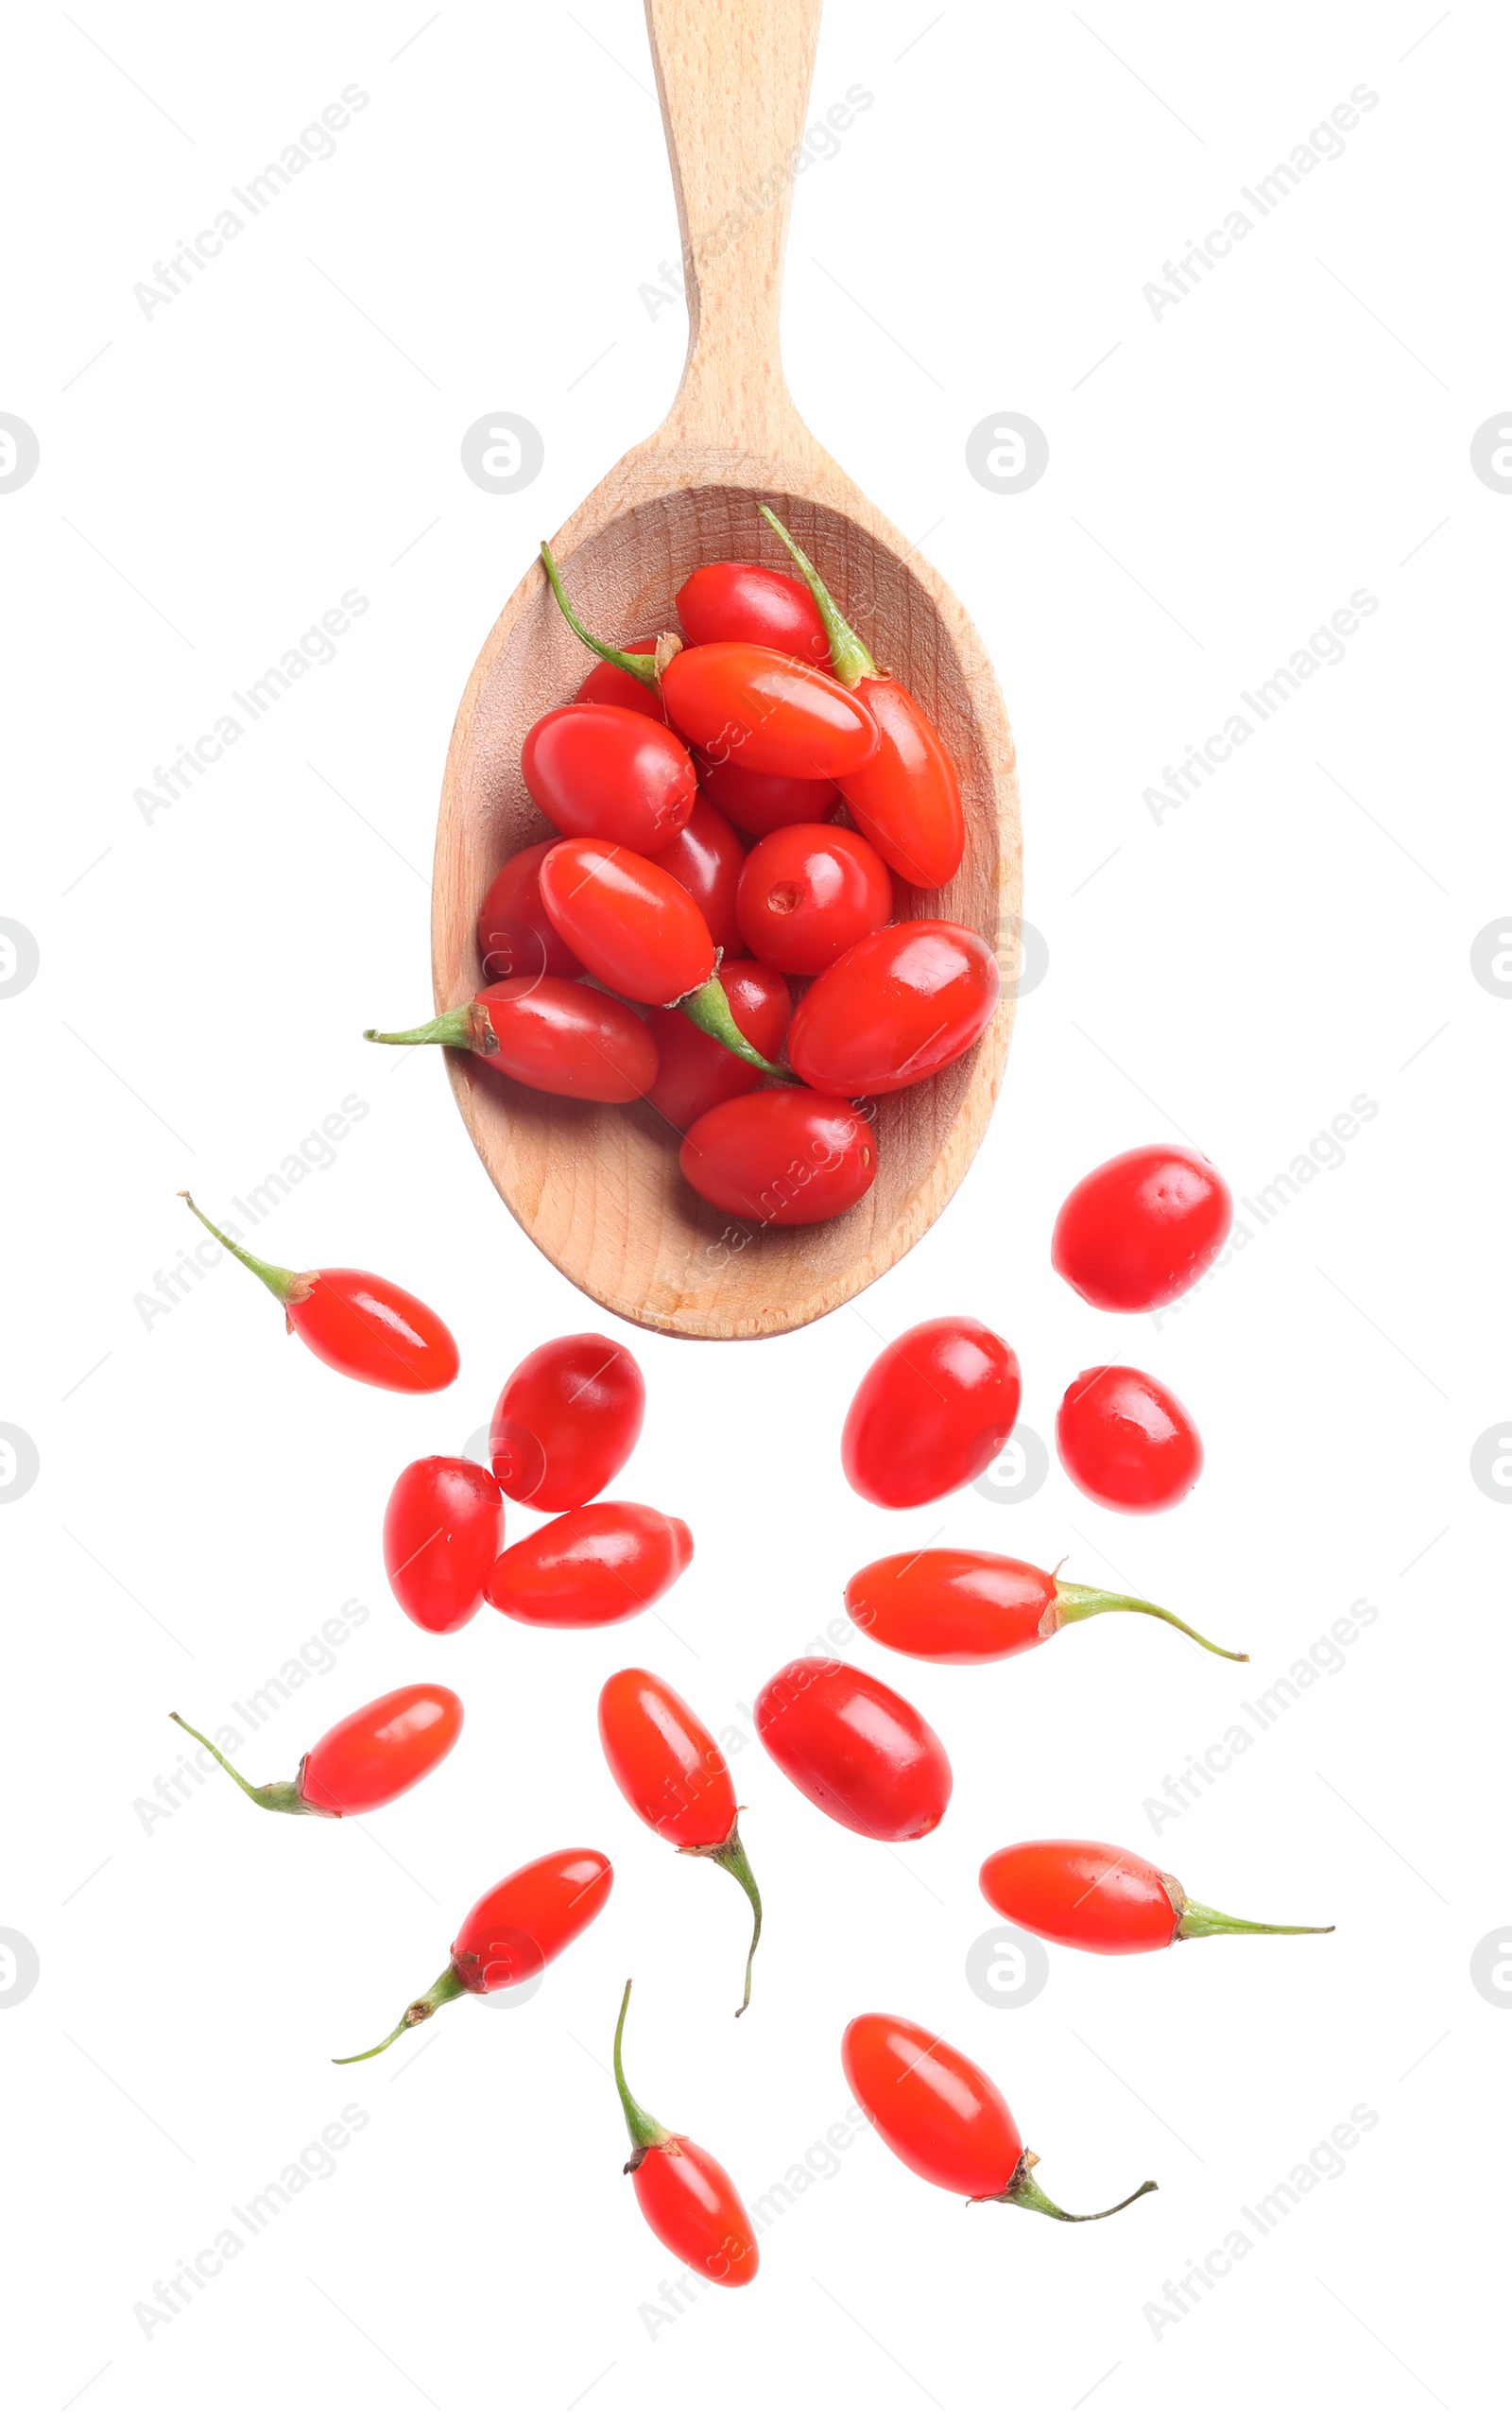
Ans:
[{"label": "light wooden spoon holding a heap of red berries", "polygon": [[[899,887],[897,913],[974,926],[998,952],[1006,989],[964,1059],[877,1105],[872,1190],[843,1219],[809,1228],[741,1226],[700,1202],[678,1173],[678,1136],[649,1102],[569,1102],[448,1054],[463,1119],[521,1228],[611,1313],[678,1337],[795,1330],[892,1270],[981,1144],[1013,1025],[1020,843],[998,683],[945,582],[814,443],[780,368],[788,162],[804,131],[819,7],[647,0],[683,230],[688,363],[657,434],[579,504],[552,548],[589,630],[625,642],[674,625],[674,594],[695,565],[790,569],[756,511],[771,504],[960,768],[964,860],[943,894]],[[514,850],[550,831],[521,780],[521,741],[591,661],[531,565],[472,666],[446,758],[436,1008],[482,984],[482,894]]]}]

